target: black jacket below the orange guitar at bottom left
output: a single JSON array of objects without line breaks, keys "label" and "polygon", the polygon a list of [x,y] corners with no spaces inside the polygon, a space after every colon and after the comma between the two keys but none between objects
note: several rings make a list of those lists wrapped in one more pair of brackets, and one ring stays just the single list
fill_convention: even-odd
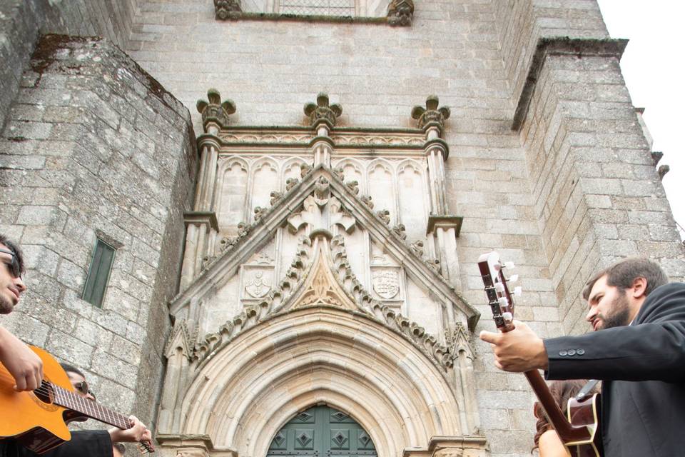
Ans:
[{"label": "black jacket below the orange guitar at bottom left", "polygon": [[71,431],[71,440],[51,451],[36,454],[11,438],[0,440],[0,457],[112,457],[112,440],[106,430]]}]

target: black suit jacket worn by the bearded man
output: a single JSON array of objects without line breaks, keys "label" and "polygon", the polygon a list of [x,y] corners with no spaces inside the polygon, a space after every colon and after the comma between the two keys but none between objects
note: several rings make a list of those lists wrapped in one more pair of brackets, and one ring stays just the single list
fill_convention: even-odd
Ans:
[{"label": "black suit jacket worn by the bearded man", "polygon": [[544,346],[548,379],[602,379],[605,456],[685,456],[685,283],[652,291],[631,326]]}]

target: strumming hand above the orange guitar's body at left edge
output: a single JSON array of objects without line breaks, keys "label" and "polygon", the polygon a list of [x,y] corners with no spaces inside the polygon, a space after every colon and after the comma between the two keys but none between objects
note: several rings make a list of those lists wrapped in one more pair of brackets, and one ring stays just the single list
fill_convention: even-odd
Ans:
[{"label": "strumming hand above the orange guitar's body at left edge", "polygon": [[43,361],[19,338],[0,326],[0,362],[14,378],[16,391],[33,391],[43,381]]}]

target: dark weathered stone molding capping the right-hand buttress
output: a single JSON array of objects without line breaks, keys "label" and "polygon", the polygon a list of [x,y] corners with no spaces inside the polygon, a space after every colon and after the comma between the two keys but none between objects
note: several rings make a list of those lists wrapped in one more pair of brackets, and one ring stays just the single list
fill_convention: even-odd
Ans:
[{"label": "dark weathered stone molding capping the right-hand buttress", "polygon": [[572,39],[568,36],[539,39],[528,68],[526,82],[516,106],[512,130],[519,131],[528,115],[537,79],[548,56],[574,56],[578,58],[595,56],[618,59],[620,61],[623,51],[626,49],[626,44],[628,44],[626,39]]}]

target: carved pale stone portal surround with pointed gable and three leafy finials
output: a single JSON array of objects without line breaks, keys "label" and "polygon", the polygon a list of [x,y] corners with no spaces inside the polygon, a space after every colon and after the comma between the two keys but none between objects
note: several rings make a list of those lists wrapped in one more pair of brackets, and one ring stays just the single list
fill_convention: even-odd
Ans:
[{"label": "carved pale stone portal surround with pointed gable and three leafy finials", "polygon": [[[454,245],[461,219],[445,213],[442,161],[448,148],[440,139],[449,110],[437,109],[437,98],[435,106],[429,99],[420,115],[421,129],[360,129],[337,125],[342,108],[330,104],[326,94],[305,106],[308,126],[230,126],[227,119],[235,106],[222,102],[216,91],[210,91],[198,109],[205,126],[198,138],[201,174],[196,207],[186,214],[181,293],[170,303],[178,329],[167,351],[159,415],[168,446],[180,446],[178,433],[186,433],[209,436],[202,447],[208,455],[223,445],[243,446],[245,451],[248,445],[242,444],[240,433],[228,435],[236,441],[217,443],[202,413],[196,416],[199,411],[188,410],[188,403],[171,391],[203,396],[205,381],[230,391],[231,382],[218,381],[217,376],[240,366],[238,359],[257,363],[260,338],[267,334],[273,338],[267,343],[272,355],[265,353],[265,359],[275,353],[313,351],[303,361],[288,360],[313,363],[306,369],[314,377],[330,369],[337,357],[342,357],[342,366],[356,363],[346,361],[350,357],[365,360],[362,346],[382,335],[382,341],[369,343],[378,357],[387,351],[404,354],[390,357],[391,366],[383,371],[424,366],[422,372],[430,374],[422,374],[418,382],[432,387],[416,388],[446,389],[439,402],[452,402],[453,416],[440,421],[452,423],[449,433],[476,431],[473,354],[465,357],[464,348],[480,313],[455,289]],[[295,328],[302,336],[293,343],[288,332]],[[338,343],[351,352],[341,352]],[[319,350],[332,353],[320,356]],[[235,355],[226,358],[228,354]],[[410,360],[402,361],[407,357]],[[392,366],[397,363],[402,368]],[[239,373],[243,371],[233,376],[243,376]],[[254,384],[250,395],[258,395],[260,382],[249,381],[242,389]],[[308,382],[318,383],[314,378]],[[394,382],[400,386],[415,381]],[[352,387],[355,383],[344,381],[335,395],[343,395],[346,388],[359,390]],[[255,411],[263,408],[258,397],[253,401]],[[327,401],[345,411],[334,398]],[[377,405],[385,401],[378,399]],[[235,417],[240,414],[236,411]],[[215,416],[212,421],[227,417]],[[241,419],[244,424],[251,420]],[[374,427],[367,424],[367,430],[377,430]],[[400,421],[397,427],[402,428]],[[423,442],[446,430],[437,427]],[[380,436],[371,438],[382,448]],[[410,442],[402,448],[411,447]],[[249,446],[256,446],[250,451],[255,455],[263,454],[259,443]],[[387,446],[389,455],[401,451],[390,452]]]}]

